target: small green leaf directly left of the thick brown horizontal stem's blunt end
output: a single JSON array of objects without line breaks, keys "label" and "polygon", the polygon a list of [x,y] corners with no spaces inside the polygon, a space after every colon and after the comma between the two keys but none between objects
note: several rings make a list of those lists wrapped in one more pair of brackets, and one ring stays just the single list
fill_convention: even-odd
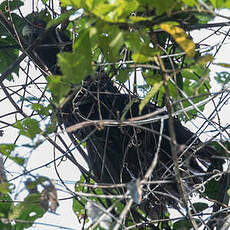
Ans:
[{"label": "small green leaf directly left of the thick brown horizontal stem's blunt end", "polygon": [[34,139],[35,136],[41,133],[39,121],[27,117],[22,121],[17,121],[14,127],[19,129],[19,134]]}]

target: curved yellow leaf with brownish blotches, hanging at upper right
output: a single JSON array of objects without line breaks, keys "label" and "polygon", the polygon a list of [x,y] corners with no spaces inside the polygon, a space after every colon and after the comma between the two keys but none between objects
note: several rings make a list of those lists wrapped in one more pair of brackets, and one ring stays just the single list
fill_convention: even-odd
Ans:
[{"label": "curved yellow leaf with brownish blotches, hanging at upper right", "polygon": [[185,51],[188,57],[194,57],[195,55],[195,44],[190,40],[183,29],[178,26],[173,26],[169,23],[160,24],[162,30],[169,33],[179,46]]}]

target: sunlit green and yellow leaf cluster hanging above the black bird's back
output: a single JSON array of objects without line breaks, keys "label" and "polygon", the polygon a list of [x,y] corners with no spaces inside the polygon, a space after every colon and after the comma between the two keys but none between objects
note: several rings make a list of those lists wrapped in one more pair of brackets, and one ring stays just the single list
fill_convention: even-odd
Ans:
[{"label": "sunlit green and yellow leaf cluster hanging above the black bird's back", "polygon": [[[158,102],[162,100],[162,96],[164,94],[162,71],[164,69],[167,71],[171,70],[172,72],[172,74],[168,75],[168,84],[170,84],[170,96],[172,96],[175,100],[183,100],[184,96],[178,93],[175,83],[174,85],[171,84],[173,75],[175,75],[175,70],[173,69],[178,70],[178,73],[176,74],[176,82],[178,82],[181,77],[182,79],[180,81],[184,82],[184,85],[181,84],[180,89],[184,90],[188,96],[197,95],[194,99],[195,103],[207,98],[207,90],[210,88],[208,75],[206,75],[206,78],[203,77],[202,80],[198,80],[194,79],[195,76],[192,76],[191,78],[187,77],[186,74],[180,74],[180,72],[183,72],[184,69],[186,70],[186,63],[189,63],[188,72],[194,75],[193,72],[196,73],[197,69],[200,70],[201,67],[199,73],[196,73],[197,75],[200,75],[202,70],[205,69],[207,62],[200,64],[199,68],[196,67],[195,63],[199,61],[200,56],[198,52],[196,53],[194,61],[191,59],[195,55],[195,44],[181,28],[180,23],[177,22],[177,17],[184,17],[184,15],[182,13],[178,13],[178,15],[175,16],[176,20],[171,21],[173,18],[173,16],[171,16],[173,10],[182,9],[184,7],[189,9],[188,7],[193,5],[194,2],[186,2],[188,5],[184,5],[183,1],[178,4],[174,4],[173,2],[172,4],[167,3],[165,5],[159,5],[157,1],[148,2],[136,0],[129,2],[115,1],[113,4],[106,4],[106,1],[87,1],[84,3],[81,1],[62,1],[64,6],[71,5],[76,8],[84,9],[84,17],[82,18],[84,20],[84,24],[82,26],[85,28],[83,32],[78,34],[77,42],[74,45],[74,53],[63,53],[59,56],[60,67],[63,73],[66,73],[64,76],[67,78],[63,81],[66,83],[69,81],[68,79],[71,79],[72,83],[79,83],[84,76],[91,73],[92,70],[88,70],[91,66],[89,65],[91,57],[93,60],[96,60],[94,55],[96,54],[98,57],[98,53],[95,53],[94,50],[99,49],[101,54],[99,56],[100,58],[103,58],[104,62],[119,63],[122,58],[124,61],[134,61],[137,67],[139,64],[143,65],[144,63],[154,63],[159,69],[157,72],[160,73],[161,79],[157,80],[159,82],[156,82],[156,85],[150,90],[144,99],[140,106],[140,111],[143,109],[143,106],[154,95],[156,95],[157,92],[161,92]],[[199,7],[198,3],[196,3],[196,7]],[[150,13],[145,12],[146,8],[149,9]],[[135,16],[132,15],[132,12],[135,12],[137,9],[138,11],[135,13]],[[139,14],[143,16],[140,17]],[[161,17],[162,20],[160,19]],[[170,22],[167,22],[167,19],[169,19]],[[199,23],[199,21],[199,18],[191,17],[189,23]],[[83,28],[81,28],[81,30],[83,30]],[[166,34],[163,34],[162,36],[162,34],[158,35],[151,32],[153,29],[157,28],[165,30],[168,33],[168,36]],[[172,37],[170,37],[170,35]],[[161,48],[158,48],[159,45],[165,44],[168,38],[172,41],[172,44],[167,47],[162,46]],[[176,41],[178,45],[176,45],[174,41]],[[89,49],[90,47],[91,49]],[[182,66],[175,63],[173,59],[165,60],[164,63],[161,64],[157,61],[159,55],[169,55],[171,52],[170,50],[175,48],[177,50],[182,49],[187,54],[187,57],[182,63],[183,69]],[[120,51],[125,49],[129,50],[131,59],[130,57],[120,55]],[[162,51],[163,49],[165,50]],[[75,61],[74,64],[71,64],[72,60],[77,60],[77,62]],[[70,66],[68,67],[68,65]],[[127,67],[130,69],[129,65]],[[118,73],[118,80],[121,76],[120,73],[123,72],[120,68],[121,67],[116,67],[115,65],[115,71]],[[75,71],[79,72],[79,75],[77,75],[78,79],[76,80],[76,76],[71,76],[71,73],[74,73]],[[134,71],[133,67],[130,71]],[[143,74],[144,72],[145,70],[143,69]],[[149,76],[155,74],[155,70],[153,71],[151,68],[148,69]],[[207,72],[205,74],[207,74]],[[202,72],[202,75],[204,75],[204,72]],[[200,82],[202,82],[201,86],[197,87],[195,84],[192,85],[191,82],[193,82],[193,80],[195,80],[199,85]],[[55,90],[52,90],[51,88],[51,92],[55,93]],[[198,92],[203,96],[198,97]],[[190,103],[184,103],[183,107],[186,108],[189,105]],[[203,107],[201,107],[201,109],[203,109]],[[191,118],[191,115],[194,116],[195,113],[196,111],[193,110],[188,115]]]}]

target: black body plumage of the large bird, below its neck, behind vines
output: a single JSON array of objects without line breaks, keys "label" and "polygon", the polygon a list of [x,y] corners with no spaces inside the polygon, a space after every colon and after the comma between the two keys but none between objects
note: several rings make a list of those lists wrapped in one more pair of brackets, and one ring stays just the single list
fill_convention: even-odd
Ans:
[{"label": "black body plumage of the large bird, below its neck, behind vines", "polygon": [[[85,81],[77,94],[63,106],[63,122],[68,127],[86,120],[119,120],[130,100],[131,96],[121,94],[107,76],[99,74],[96,79]],[[140,101],[137,98],[136,100],[126,113],[125,119],[138,116]],[[143,109],[142,115],[157,109],[155,105],[149,103]],[[88,137],[86,146],[89,164],[98,180],[107,183],[122,183],[144,176],[157,151],[160,126],[160,121],[139,127],[90,126],[74,132],[74,135],[79,140]],[[161,179],[162,173],[170,169],[173,164],[168,119],[164,120],[163,127],[158,166],[153,173],[155,179]],[[201,144],[196,135],[177,119],[174,119],[174,129],[178,149],[183,148],[178,151],[178,156],[192,142],[195,142],[196,146]],[[191,149],[185,151],[182,159],[184,162],[187,157],[187,165],[184,163],[182,167],[190,167],[190,173],[204,172],[199,164],[201,161],[203,163],[210,161],[213,151],[207,146],[197,152]],[[168,173],[169,178],[172,178],[170,175],[172,171],[171,167]]]}]

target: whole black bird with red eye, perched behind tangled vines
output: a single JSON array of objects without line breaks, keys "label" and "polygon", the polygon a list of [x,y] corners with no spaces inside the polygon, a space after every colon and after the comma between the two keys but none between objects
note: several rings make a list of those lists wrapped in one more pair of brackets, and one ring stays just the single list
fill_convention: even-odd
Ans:
[{"label": "whole black bird with red eye, perched behind tangled vines", "polygon": [[[33,25],[24,27],[24,36],[30,38],[40,36],[44,32],[45,25],[42,21],[34,20]],[[69,41],[62,34],[61,37],[65,42]],[[51,30],[42,38],[40,45],[58,45],[58,43],[55,30]],[[56,55],[61,50],[60,46],[44,47],[44,49],[41,46],[37,47],[35,52],[52,73],[60,73],[56,67]],[[71,50],[71,47],[67,46],[67,50]],[[134,102],[127,108],[131,100]],[[94,76],[87,76],[77,90],[74,90],[73,86],[68,100],[62,106],[61,121],[65,127],[88,120],[120,121],[122,116],[124,119],[138,116],[139,104],[140,100],[137,97],[122,93],[105,73],[97,73]],[[142,115],[158,109],[156,105],[148,103]],[[161,113],[159,116],[165,114]],[[173,123],[180,171],[185,190],[190,192],[192,186],[203,179],[197,173],[214,168],[221,170],[223,162],[215,159],[218,155],[215,149],[203,145],[199,138],[184,127],[177,118],[174,118]],[[157,212],[165,209],[166,205],[174,205],[180,199],[173,170],[168,119],[164,119],[162,123],[159,119],[156,122],[138,126],[134,124],[87,126],[74,131],[73,135],[79,141],[86,142],[89,168],[97,182],[101,183],[128,183],[137,178],[143,178],[159,149],[151,180],[170,182],[154,185],[148,189],[145,187],[146,194],[149,195],[143,199],[142,209],[154,218],[160,215]],[[192,147],[188,147],[190,145]]]}]

